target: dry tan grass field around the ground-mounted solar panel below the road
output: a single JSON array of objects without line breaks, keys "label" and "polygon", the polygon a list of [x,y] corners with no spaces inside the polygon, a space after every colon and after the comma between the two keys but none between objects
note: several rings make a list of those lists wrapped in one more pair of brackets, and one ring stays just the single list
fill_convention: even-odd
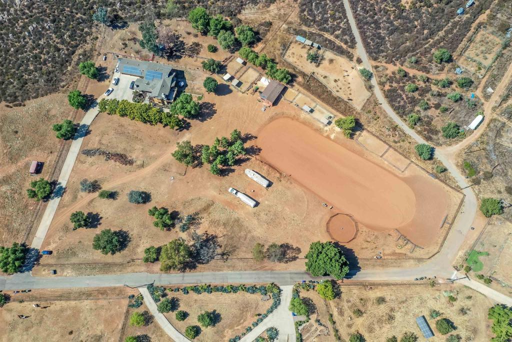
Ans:
[{"label": "dry tan grass field around the ground-mounted solar panel below the road", "polygon": [[[464,341],[490,339],[487,310],[493,306],[493,302],[465,287],[342,285],[341,290],[342,295],[329,301],[327,307],[333,315],[340,336],[345,340],[356,331],[372,342],[384,342],[392,335],[400,338],[407,331],[412,331],[419,340],[424,340],[415,321],[416,317],[424,315],[435,335],[429,341],[444,342],[446,335],[443,336],[436,330],[437,319],[430,317],[431,310],[441,312],[439,318],[451,319],[457,327],[453,334],[459,334]],[[446,293],[451,293],[457,301],[450,303],[444,295]],[[309,296],[310,292],[301,292],[301,297]],[[318,300],[314,300],[314,303],[317,304]],[[362,311],[362,316],[354,315],[356,309]],[[330,327],[327,321],[324,324]]]}]

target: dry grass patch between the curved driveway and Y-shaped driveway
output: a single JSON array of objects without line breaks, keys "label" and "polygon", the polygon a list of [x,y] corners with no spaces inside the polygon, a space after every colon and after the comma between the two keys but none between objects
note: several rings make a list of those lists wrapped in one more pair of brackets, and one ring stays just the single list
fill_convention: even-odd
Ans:
[{"label": "dry grass patch between the curved driveway and Y-shaped driveway", "polygon": [[220,315],[220,321],[214,327],[201,327],[201,334],[195,339],[199,342],[228,340],[245,331],[245,328],[257,319],[255,314],[265,313],[272,300],[262,301],[261,295],[245,292],[189,294],[170,293],[169,297],[180,300],[179,310],[188,312],[184,321],[177,321],[174,312],[165,314],[170,323],[181,333],[189,325],[199,325],[197,316],[204,311],[215,310]]}]

